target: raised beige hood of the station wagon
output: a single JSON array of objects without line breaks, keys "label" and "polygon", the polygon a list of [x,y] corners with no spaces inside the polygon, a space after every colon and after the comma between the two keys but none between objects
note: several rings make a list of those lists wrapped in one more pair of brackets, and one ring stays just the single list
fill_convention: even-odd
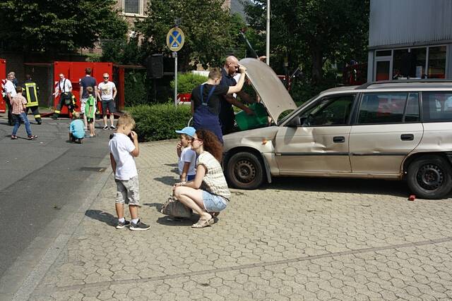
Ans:
[{"label": "raised beige hood of the station wagon", "polygon": [[250,58],[242,59],[239,63],[246,67],[246,75],[251,85],[261,97],[261,102],[266,106],[275,123],[278,123],[278,117],[283,111],[297,109],[283,82],[270,66],[263,61]]}]

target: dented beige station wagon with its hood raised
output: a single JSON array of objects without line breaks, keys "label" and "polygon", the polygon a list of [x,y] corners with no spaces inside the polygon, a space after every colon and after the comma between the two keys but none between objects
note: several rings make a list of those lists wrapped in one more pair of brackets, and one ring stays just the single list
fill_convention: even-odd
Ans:
[{"label": "dented beige station wagon with its hood raised", "polygon": [[[273,70],[240,61],[273,125],[224,136],[225,176],[256,189],[279,176],[407,180],[417,197],[452,188],[452,81],[369,82],[297,106]],[[284,118],[278,117],[291,110]]]}]

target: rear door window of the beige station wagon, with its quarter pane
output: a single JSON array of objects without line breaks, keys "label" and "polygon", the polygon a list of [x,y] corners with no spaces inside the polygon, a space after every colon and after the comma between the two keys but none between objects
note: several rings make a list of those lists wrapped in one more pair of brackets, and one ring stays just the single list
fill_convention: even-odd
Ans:
[{"label": "rear door window of the beige station wagon, with its quarter pane", "polygon": [[[410,100],[410,113],[415,115],[415,95]],[[364,94],[359,106],[358,123],[403,123],[407,92],[368,93]],[[419,102],[418,102],[419,103]],[[408,108],[407,108],[408,109]],[[419,111],[419,104],[417,104]],[[417,113],[419,116],[419,112]],[[412,118],[411,116],[408,118]]]}]

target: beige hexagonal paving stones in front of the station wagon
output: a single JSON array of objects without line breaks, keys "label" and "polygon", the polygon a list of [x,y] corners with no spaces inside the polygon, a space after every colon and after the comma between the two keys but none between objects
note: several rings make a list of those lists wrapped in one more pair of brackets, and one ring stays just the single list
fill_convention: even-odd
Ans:
[{"label": "beige hexagonal paving stones in front of the station wagon", "polygon": [[409,202],[400,182],[279,179],[232,190],[217,223],[192,229],[158,211],[175,144],[143,144],[136,160],[150,231],[114,228],[110,174],[30,300],[452,300],[451,199]]}]

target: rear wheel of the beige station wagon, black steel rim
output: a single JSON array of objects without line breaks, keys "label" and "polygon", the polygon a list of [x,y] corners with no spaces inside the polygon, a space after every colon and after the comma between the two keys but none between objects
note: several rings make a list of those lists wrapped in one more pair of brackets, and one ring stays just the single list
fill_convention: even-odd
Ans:
[{"label": "rear wheel of the beige station wagon, black steel rim", "polygon": [[408,187],[421,199],[441,199],[451,191],[451,164],[441,156],[422,156],[408,166]]}]

